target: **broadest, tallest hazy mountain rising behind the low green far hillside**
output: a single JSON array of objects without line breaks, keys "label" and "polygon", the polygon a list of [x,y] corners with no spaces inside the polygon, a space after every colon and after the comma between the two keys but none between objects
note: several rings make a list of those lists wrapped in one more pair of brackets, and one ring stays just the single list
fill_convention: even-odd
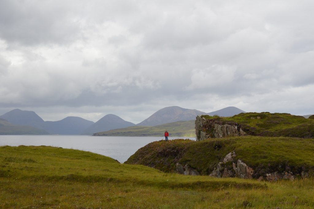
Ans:
[{"label": "broadest, tallest hazy mountain rising behind the low green far hillside", "polygon": [[149,116],[137,125],[155,126],[176,121],[195,120],[197,115],[206,114],[199,110],[185,109],[178,106],[165,107]]}]

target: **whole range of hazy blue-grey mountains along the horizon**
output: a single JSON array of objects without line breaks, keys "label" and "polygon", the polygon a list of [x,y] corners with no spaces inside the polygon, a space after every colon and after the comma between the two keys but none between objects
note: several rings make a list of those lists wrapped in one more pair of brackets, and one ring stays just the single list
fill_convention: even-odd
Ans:
[{"label": "whole range of hazy blue-grey mountains along the horizon", "polygon": [[[96,123],[93,121],[86,120],[80,117],[67,117],[59,121],[44,121],[39,117],[34,111],[26,111],[20,109],[14,109],[0,116],[0,118],[5,119],[12,125],[17,126],[28,126],[32,127],[33,134],[40,133],[49,133],[49,134],[60,134],[60,135],[92,135],[96,132],[108,131],[112,129],[121,129],[130,126],[156,126],[166,123],[172,123],[176,121],[188,121],[195,120],[197,115],[207,114],[214,115],[218,114],[219,116],[233,116],[238,113],[245,113],[243,110],[240,110],[236,107],[226,107],[221,110],[205,113],[195,109],[186,109],[182,107],[165,107],[154,114],[149,118],[143,120],[139,124],[133,124],[131,122],[125,121],[122,118],[108,114],[103,118],[100,118]],[[8,124],[6,124],[8,126]],[[18,127],[14,129],[18,129]],[[4,125],[3,125],[4,127]],[[22,127],[20,127],[22,129]],[[23,127],[24,129],[25,127]],[[41,131],[38,131],[41,130]],[[32,134],[32,132],[28,132]],[[1,134],[1,133],[0,133]]]}]

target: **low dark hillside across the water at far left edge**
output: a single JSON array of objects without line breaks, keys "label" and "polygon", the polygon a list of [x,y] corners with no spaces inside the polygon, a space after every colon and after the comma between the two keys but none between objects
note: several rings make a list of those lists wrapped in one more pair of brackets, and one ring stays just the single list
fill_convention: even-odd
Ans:
[{"label": "low dark hillside across the water at far left edge", "polygon": [[14,125],[0,118],[0,135],[46,135],[45,130],[27,125]]}]

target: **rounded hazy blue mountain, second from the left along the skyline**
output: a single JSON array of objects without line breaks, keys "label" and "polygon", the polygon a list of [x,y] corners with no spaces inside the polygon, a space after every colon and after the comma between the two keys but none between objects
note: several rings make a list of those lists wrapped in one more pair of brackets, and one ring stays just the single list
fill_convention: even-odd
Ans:
[{"label": "rounded hazy blue mountain, second from the left along the skyline", "polygon": [[95,124],[93,121],[69,116],[59,121],[45,121],[44,129],[51,134],[79,135],[93,124]]}]

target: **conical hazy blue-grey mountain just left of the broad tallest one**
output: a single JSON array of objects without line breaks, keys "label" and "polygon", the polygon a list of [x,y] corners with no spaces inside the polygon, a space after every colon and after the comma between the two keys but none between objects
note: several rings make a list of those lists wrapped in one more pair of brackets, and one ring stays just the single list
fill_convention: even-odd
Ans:
[{"label": "conical hazy blue-grey mountain just left of the broad tallest one", "polygon": [[121,129],[135,124],[125,121],[119,116],[108,114],[100,118],[95,124],[82,131],[83,134],[94,134],[96,132],[108,131],[111,129]]}]

